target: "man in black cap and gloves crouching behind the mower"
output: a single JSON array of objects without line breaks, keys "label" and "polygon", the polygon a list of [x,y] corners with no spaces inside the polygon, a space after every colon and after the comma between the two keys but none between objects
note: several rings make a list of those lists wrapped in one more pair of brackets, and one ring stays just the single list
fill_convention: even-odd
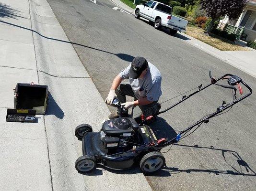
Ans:
[{"label": "man in black cap and gloves crouching behind the mower", "polygon": [[[121,84],[124,79],[129,79],[130,84]],[[128,116],[128,109],[132,106],[139,106],[145,118],[152,116],[157,114],[161,107],[157,103],[162,95],[161,81],[161,73],[153,64],[143,57],[135,57],[113,80],[105,102],[111,105],[117,96],[124,107],[124,116]],[[127,102],[126,96],[134,97],[135,101]],[[109,116],[114,117],[117,117],[117,114]]]}]

